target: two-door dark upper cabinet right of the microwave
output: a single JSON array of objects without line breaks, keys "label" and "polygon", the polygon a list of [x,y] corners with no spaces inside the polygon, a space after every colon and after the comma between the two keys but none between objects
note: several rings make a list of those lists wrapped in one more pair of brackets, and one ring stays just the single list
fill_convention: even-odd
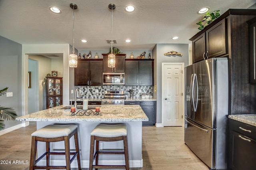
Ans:
[{"label": "two-door dark upper cabinet right of the microwave", "polygon": [[125,85],[152,86],[154,59],[126,59]]}]

